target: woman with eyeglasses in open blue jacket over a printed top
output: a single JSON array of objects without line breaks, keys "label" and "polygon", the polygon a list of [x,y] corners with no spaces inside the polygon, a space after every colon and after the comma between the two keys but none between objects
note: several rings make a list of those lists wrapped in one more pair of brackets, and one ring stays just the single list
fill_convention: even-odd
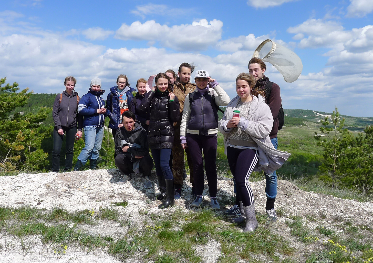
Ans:
[{"label": "woman with eyeglasses in open blue jacket over a printed top", "polygon": [[[117,129],[123,126],[122,114],[129,110],[129,105],[134,97],[132,91],[136,91],[134,88],[129,87],[130,84],[126,75],[120,74],[116,84],[116,86],[110,88],[110,93],[106,99],[106,106],[110,111],[109,128],[112,129],[114,140]],[[114,155],[116,156],[116,154]]]}]

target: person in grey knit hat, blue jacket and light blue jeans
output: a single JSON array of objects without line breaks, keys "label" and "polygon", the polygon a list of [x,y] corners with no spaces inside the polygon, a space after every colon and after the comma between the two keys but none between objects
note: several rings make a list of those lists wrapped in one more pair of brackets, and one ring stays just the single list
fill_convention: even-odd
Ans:
[{"label": "person in grey knit hat, blue jacket and light blue jeans", "polygon": [[88,93],[79,101],[78,113],[83,116],[85,146],[78,156],[74,171],[79,171],[88,159],[91,169],[97,166],[104,135],[105,117],[110,113],[105,109],[105,101],[101,98],[104,93],[105,91],[101,90],[101,79],[93,78]]}]

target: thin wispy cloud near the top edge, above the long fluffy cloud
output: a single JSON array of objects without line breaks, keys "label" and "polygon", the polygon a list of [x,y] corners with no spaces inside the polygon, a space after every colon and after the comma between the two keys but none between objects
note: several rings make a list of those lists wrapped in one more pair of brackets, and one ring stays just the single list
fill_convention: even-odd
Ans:
[{"label": "thin wispy cloud near the top edge, above the long fluffy cloud", "polygon": [[144,4],[142,6],[136,6],[135,10],[131,10],[132,14],[141,16],[145,19],[147,15],[162,15],[162,16],[181,16],[187,13],[193,12],[190,8],[172,8],[165,4]]}]

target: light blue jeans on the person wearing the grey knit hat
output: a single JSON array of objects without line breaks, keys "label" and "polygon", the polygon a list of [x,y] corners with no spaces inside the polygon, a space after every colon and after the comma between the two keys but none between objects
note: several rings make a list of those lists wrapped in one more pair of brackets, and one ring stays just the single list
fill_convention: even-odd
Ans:
[{"label": "light blue jeans on the person wearing the grey knit hat", "polygon": [[78,156],[78,160],[83,165],[87,163],[88,159],[97,160],[102,144],[102,138],[104,136],[103,127],[85,126],[83,127],[85,146]]}]

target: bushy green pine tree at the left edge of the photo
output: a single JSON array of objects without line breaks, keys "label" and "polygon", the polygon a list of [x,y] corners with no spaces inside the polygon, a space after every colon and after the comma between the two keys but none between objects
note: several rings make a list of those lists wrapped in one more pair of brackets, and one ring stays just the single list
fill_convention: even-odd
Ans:
[{"label": "bushy green pine tree at the left edge of the photo", "polygon": [[32,91],[19,90],[16,82],[4,87],[6,78],[0,79],[0,171],[27,169],[42,170],[48,164],[48,154],[41,149],[41,141],[49,136],[52,127],[42,126],[51,108],[41,107],[39,112],[14,112],[27,104]]}]

